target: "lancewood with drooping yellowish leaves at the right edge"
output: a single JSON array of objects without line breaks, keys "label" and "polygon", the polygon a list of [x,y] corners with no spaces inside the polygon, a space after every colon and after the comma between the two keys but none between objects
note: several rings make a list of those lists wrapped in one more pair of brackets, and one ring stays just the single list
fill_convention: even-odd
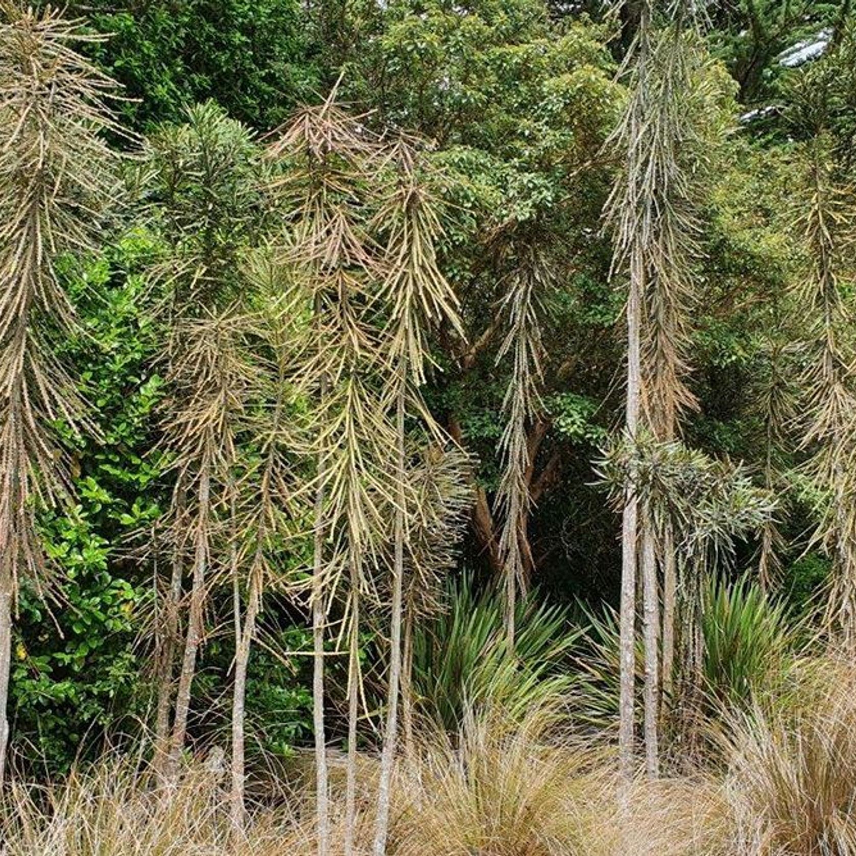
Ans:
[{"label": "lancewood with drooping yellowish leaves at the right edge", "polygon": [[[849,328],[853,282],[848,247],[856,235],[856,192],[836,157],[830,120],[836,101],[832,56],[792,87],[794,124],[807,129],[804,199],[795,224],[804,264],[794,289],[803,344],[801,446],[811,452],[808,473],[817,486],[820,520],[814,539],[834,568],[827,618],[847,645],[856,644],[856,377]],[[806,324],[806,310],[808,310]]]}]

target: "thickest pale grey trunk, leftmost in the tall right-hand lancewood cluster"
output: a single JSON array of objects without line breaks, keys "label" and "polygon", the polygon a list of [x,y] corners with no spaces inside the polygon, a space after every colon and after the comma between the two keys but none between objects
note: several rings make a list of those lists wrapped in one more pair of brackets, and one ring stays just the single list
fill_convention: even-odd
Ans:
[{"label": "thickest pale grey trunk, leftmost in the tall right-hand lancewood cluster", "polygon": [[[630,272],[630,294],[627,296],[627,401],[625,425],[627,437],[634,442],[639,429],[641,369],[639,349],[639,313],[642,276],[639,259],[634,259]],[[639,527],[639,502],[636,496],[635,472],[625,486],[624,512],[621,520],[621,692],[619,699],[619,764],[627,782],[633,777],[633,696],[635,693],[636,638],[636,568]]]}]

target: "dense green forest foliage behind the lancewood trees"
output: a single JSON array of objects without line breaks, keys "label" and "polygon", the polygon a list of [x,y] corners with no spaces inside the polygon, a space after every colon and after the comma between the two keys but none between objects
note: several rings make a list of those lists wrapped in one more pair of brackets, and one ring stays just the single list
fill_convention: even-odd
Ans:
[{"label": "dense green forest foliage behind the lancewood trees", "polygon": [[[126,87],[129,100],[118,109],[132,128],[186,121],[188,105],[213,99],[265,132],[317,98],[342,68],[340,97],[354,110],[372,110],[372,122],[435,141],[431,158],[453,176],[443,265],[458,285],[469,346],[465,354],[437,354],[443,372],[433,373],[428,395],[478,456],[477,506],[462,561],[485,580],[497,561],[490,504],[509,371],[508,361],[495,359],[502,271],[515,253],[544,253],[555,285],[539,295],[545,381],[529,437],[537,454],[527,573],[560,601],[615,602],[615,517],[591,476],[621,404],[614,334],[621,294],[609,284],[609,241],[600,229],[611,169],[602,146],[623,98],[613,82],[621,45],[607,41],[615,21],[604,18],[606,10],[515,0],[476,3],[465,15],[447,3],[352,3],[340,17],[323,5],[307,10],[282,0],[194,0],[68,10],[77,11],[98,32],[114,33],[86,50]],[[704,254],[696,263],[703,287],[692,332],[691,383],[700,406],[687,442],[761,473],[767,447],[760,390],[776,370],[776,339],[793,338],[786,324],[799,270],[794,184],[805,157],[800,128],[794,134],[789,122],[797,106],[791,78],[805,68],[791,71],[778,57],[834,27],[841,9],[805,3],[788,16],[775,4],[751,4],[716,15],[722,21],[714,18],[707,38],[722,62],[709,72],[717,100],[702,109],[731,133],[710,152],[715,181],[704,200]],[[841,146],[850,141],[851,121],[841,109],[834,128]],[[98,254],[61,269],[81,318],[80,335],[62,347],[104,434],[74,442],[77,514],[43,516],[50,556],[62,568],[58,602],[43,605],[27,591],[21,598],[13,740],[53,769],[67,768],[81,741],[98,752],[104,734],[136,728],[149,704],[139,640],[152,609],[152,568],[136,561],[127,539],[157,526],[169,479],[154,416],[164,395],[161,332],[145,308],[154,299],[146,273],[163,238],[152,209],[143,211],[139,217],[126,209]],[[800,482],[799,455],[784,441],[772,454],[777,478],[789,484],[781,586],[802,609],[823,586],[827,560],[805,551],[811,496]],[[754,550],[752,542],[739,547],[738,570],[752,567]],[[299,615],[284,605],[270,610],[265,621],[276,647],[300,647]],[[217,699],[232,656],[223,635],[208,639],[195,687],[200,735],[211,728],[216,734],[223,722]],[[299,658],[283,663],[262,649],[253,658],[249,709],[258,722],[282,722],[260,736],[266,748],[286,751],[309,732],[306,668]]]}]

